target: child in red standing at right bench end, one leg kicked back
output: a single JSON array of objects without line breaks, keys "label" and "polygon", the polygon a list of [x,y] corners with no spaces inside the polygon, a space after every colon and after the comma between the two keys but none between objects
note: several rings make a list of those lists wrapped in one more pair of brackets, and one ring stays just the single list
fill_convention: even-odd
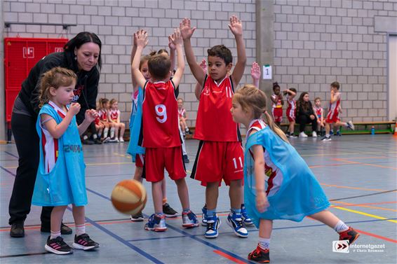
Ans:
[{"label": "child in red standing at right bench end, one leg kicked back", "polygon": [[330,136],[330,125],[334,124],[334,129],[337,130],[337,127],[343,125],[344,127],[350,128],[354,130],[354,125],[351,120],[347,123],[341,122],[339,119],[339,111],[340,111],[340,92],[339,92],[339,83],[337,81],[331,83],[331,99],[330,99],[330,108],[328,109],[327,118],[325,118],[325,137],[321,139],[322,141],[331,141]]}]

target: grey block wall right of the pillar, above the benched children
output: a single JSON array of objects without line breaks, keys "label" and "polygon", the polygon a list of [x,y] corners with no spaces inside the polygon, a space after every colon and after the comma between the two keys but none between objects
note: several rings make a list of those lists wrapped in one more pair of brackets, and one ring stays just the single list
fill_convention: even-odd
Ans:
[{"label": "grey block wall right of the pillar, above the benched children", "polygon": [[274,80],[328,107],[341,83],[342,118],[386,120],[386,33],[376,15],[397,15],[395,0],[275,0]]}]

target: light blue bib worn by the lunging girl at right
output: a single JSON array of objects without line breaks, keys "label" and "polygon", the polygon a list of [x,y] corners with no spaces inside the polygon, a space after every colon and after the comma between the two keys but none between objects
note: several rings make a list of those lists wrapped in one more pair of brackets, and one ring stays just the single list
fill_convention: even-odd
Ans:
[{"label": "light blue bib worn by the lunging girl at right", "polygon": [[[249,149],[263,146],[274,165],[283,174],[280,189],[268,197],[270,206],[260,213],[256,209],[254,160]],[[268,126],[252,134],[245,144],[244,202],[248,215],[259,228],[260,218],[286,219],[300,222],[304,216],[323,211],[330,206],[320,183],[295,148],[283,141]],[[267,190],[267,181],[263,183]]]}]

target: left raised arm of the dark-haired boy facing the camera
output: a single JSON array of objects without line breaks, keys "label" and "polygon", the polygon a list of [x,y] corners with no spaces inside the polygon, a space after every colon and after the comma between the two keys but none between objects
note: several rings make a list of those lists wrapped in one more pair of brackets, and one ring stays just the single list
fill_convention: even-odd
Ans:
[{"label": "left raised arm of the dark-haired boy facing the camera", "polygon": [[182,34],[184,54],[186,55],[187,64],[189,64],[191,74],[193,74],[197,82],[200,85],[203,85],[206,74],[203,74],[203,70],[196,62],[196,57],[194,56],[190,42],[190,38],[193,35],[194,30],[196,30],[196,27],[191,28],[189,18],[184,18],[182,22],[180,22],[180,32]]}]

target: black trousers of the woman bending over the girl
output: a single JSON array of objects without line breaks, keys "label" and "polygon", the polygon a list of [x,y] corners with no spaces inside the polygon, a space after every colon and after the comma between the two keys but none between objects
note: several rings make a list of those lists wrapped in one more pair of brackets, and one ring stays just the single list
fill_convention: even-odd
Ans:
[{"label": "black trousers of the woman bending over the girl", "polygon": [[[30,212],[34,182],[36,181],[39,167],[40,151],[39,136],[36,132],[36,118],[13,113],[11,128],[18,150],[18,169],[15,175],[13,194],[11,195],[8,212],[8,223],[25,221]],[[43,207],[41,210],[41,223],[50,225],[53,207]]]}]

